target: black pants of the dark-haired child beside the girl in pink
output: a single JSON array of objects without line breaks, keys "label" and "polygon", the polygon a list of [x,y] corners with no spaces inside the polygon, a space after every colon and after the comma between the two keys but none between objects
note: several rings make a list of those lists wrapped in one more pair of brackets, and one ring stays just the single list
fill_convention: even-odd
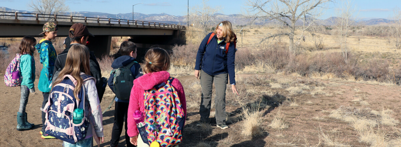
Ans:
[{"label": "black pants of the dark-haired child beside the girl in pink", "polygon": [[115,147],[118,145],[118,141],[120,141],[120,135],[123,131],[123,124],[125,122],[125,142],[127,147],[135,147],[130,142],[130,136],[127,134],[127,114],[128,114],[128,102],[115,102],[115,110],[114,110],[114,124],[113,129],[111,130],[111,140],[110,146]]}]

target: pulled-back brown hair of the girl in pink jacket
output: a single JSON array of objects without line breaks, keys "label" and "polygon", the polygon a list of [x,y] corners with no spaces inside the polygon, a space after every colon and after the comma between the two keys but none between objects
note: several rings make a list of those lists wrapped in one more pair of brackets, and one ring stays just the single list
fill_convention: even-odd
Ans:
[{"label": "pulled-back brown hair of the girl in pink jacket", "polygon": [[145,73],[167,71],[170,69],[170,55],[161,48],[149,49],[145,54],[142,70]]}]

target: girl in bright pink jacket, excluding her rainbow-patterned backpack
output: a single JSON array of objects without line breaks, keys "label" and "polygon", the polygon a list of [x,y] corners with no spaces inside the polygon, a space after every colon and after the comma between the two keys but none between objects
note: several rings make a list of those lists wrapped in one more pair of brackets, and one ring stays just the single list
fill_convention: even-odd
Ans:
[{"label": "girl in bright pink jacket, excluding her rainbow-patterned backpack", "polygon": [[[170,73],[167,72],[170,68],[170,57],[166,50],[160,48],[149,49],[145,54],[145,61],[142,65],[142,70],[145,73],[141,77],[134,80],[134,86],[131,90],[130,105],[128,107],[128,135],[132,144],[138,147],[149,147],[144,144],[141,137],[138,137],[138,129],[134,122],[133,114],[135,110],[145,113],[144,92],[150,90],[158,84],[166,82]],[[178,97],[186,114],[186,102],[184,88],[177,78],[174,78],[171,85],[178,92]],[[185,119],[184,119],[185,120]]]}]

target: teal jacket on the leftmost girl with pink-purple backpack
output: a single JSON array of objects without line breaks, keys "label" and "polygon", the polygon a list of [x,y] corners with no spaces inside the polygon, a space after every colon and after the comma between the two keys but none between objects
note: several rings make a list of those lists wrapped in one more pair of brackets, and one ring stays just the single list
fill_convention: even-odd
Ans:
[{"label": "teal jacket on the leftmost girl with pink-purple backpack", "polygon": [[29,89],[34,88],[35,81],[35,60],[30,54],[23,54],[20,58],[20,74],[22,75],[21,85],[27,86]]}]

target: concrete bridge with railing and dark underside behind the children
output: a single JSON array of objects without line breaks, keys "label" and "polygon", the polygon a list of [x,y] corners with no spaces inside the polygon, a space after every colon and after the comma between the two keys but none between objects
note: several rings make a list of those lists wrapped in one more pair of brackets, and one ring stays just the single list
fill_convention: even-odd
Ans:
[{"label": "concrete bridge with railing and dark underside behind the children", "polygon": [[171,49],[175,44],[185,43],[183,25],[122,20],[111,18],[94,18],[83,16],[49,15],[20,12],[0,11],[0,38],[23,37],[38,35],[42,32],[43,24],[53,21],[58,25],[58,37],[67,37],[69,27],[75,23],[87,25],[89,32],[95,37],[89,37],[90,50],[96,56],[110,53],[112,36],[130,36],[138,46],[138,55],[153,45]]}]

